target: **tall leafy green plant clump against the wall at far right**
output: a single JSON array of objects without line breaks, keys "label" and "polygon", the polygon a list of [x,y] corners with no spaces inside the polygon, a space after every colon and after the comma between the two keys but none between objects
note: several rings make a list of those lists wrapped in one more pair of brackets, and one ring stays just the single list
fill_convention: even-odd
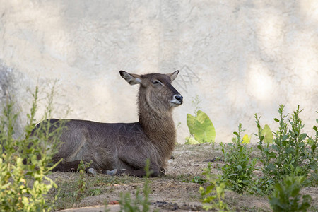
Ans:
[{"label": "tall leafy green plant clump against the wall at far right", "polygon": [[[260,161],[263,163],[263,177],[259,185],[264,189],[271,189],[275,182],[278,182],[284,175],[305,176],[310,174],[310,170],[317,170],[317,126],[315,139],[302,133],[304,125],[299,117],[300,107],[293,112],[288,122],[285,121],[288,115],[284,114],[284,105],[280,105],[278,113],[278,131],[274,133],[273,143],[265,142],[265,129],[259,123],[259,117],[255,114],[258,128],[257,137],[259,139],[257,148],[261,151]],[[318,120],[317,120],[318,122]],[[288,124],[289,123],[289,124]],[[290,126],[290,129],[289,127]],[[307,139],[307,140],[306,140]],[[314,175],[312,175],[314,177]]]}]

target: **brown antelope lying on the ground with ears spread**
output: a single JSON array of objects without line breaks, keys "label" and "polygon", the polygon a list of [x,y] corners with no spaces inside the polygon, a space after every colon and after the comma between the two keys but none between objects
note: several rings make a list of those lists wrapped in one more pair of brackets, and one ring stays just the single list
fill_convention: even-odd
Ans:
[{"label": "brown antelope lying on the ground with ears spread", "polygon": [[[182,104],[182,95],[172,86],[179,71],[170,74],[138,75],[119,71],[130,85],[139,84],[139,122],[100,123],[70,119],[62,131],[62,142],[53,162],[62,162],[53,171],[77,170],[81,160],[88,162],[88,172],[108,175],[146,175],[150,161],[151,177],[165,173],[167,160],[176,143],[173,108]],[[50,119],[50,122],[58,122]],[[41,123],[40,123],[41,124]],[[39,124],[38,124],[39,125]]]}]

